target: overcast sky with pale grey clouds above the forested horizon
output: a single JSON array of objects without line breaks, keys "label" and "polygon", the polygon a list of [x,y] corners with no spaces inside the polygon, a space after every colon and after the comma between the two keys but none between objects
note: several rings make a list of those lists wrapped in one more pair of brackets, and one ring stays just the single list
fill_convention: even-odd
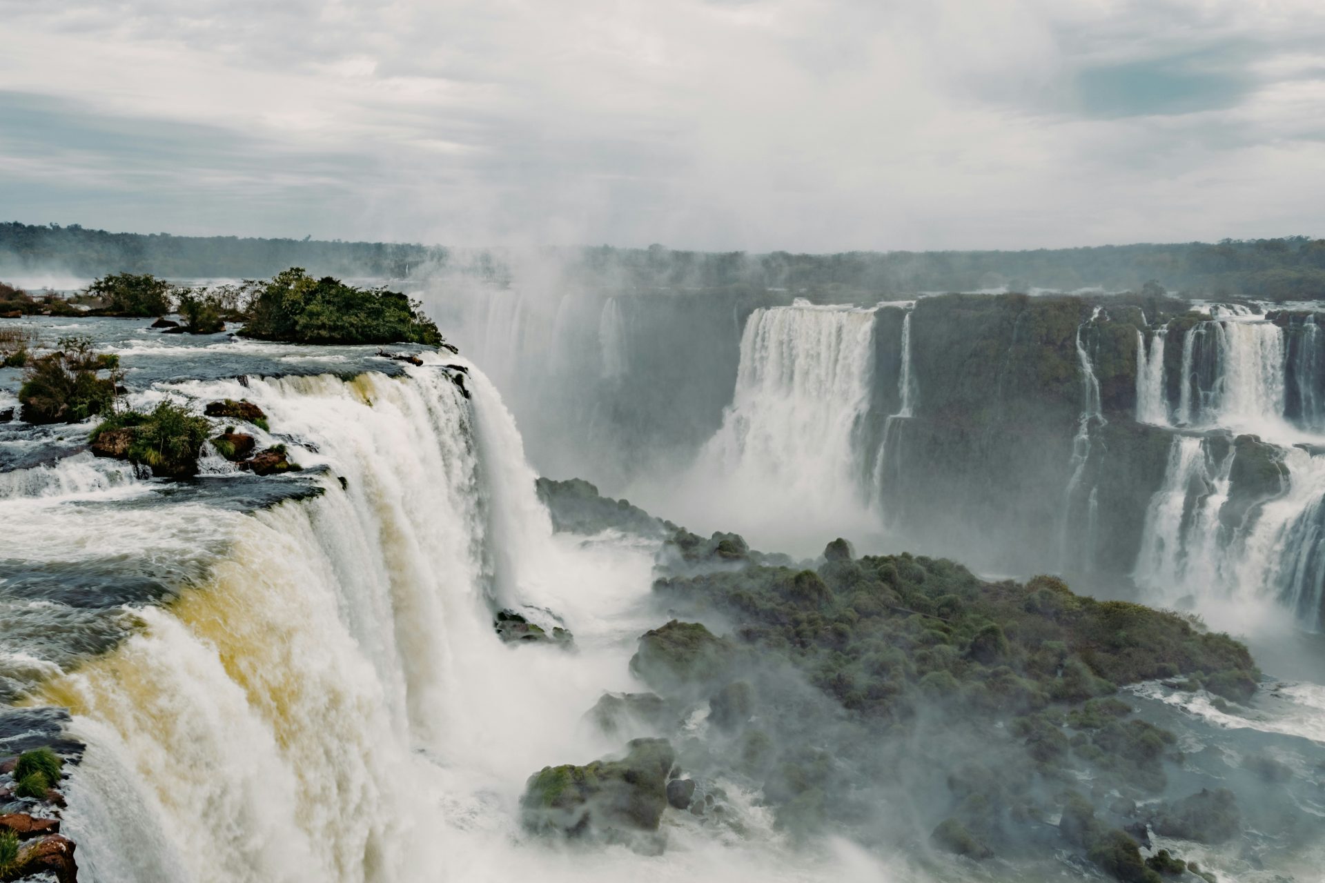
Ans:
[{"label": "overcast sky with pale grey clouds above the forested horizon", "polygon": [[1321,0],[0,0],[0,220],[747,250],[1325,236]]}]

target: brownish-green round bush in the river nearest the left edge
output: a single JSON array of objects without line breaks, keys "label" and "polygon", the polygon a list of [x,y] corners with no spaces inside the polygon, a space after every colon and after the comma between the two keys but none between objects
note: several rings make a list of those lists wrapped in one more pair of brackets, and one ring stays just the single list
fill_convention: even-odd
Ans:
[{"label": "brownish-green round bush in the river nearest the left edge", "polygon": [[29,424],[80,422],[110,412],[119,356],[95,352],[91,339],[61,338],[58,351],[24,361],[19,402]]}]

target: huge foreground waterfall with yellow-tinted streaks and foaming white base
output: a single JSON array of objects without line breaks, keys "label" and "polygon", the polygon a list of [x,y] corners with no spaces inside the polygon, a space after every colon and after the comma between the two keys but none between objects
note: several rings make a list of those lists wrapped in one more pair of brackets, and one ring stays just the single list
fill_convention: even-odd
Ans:
[{"label": "huge foreground waterfall with yellow-tinted streaks and foaming white base", "polygon": [[[179,601],[138,610],[117,650],[41,691],[87,743],[65,815],[82,879],[892,879],[841,842],[791,850],[758,808],[742,838],[669,814],[656,859],[522,834],[530,773],[620,748],[580,716],[603,690],[639,688],[627,661],[659,624],[653,548],[553,536],[514,422],[470,379],[472,404],[432,368],[183,384],[246,396],[314,442],[290,449],[330,470],[323,495],[253,516],[66,507],[60,532],[33,519],[20,539],[36,560],[140,548],[209,563]],[[502,645],[489,594],[555,610],[578,650]]]}]

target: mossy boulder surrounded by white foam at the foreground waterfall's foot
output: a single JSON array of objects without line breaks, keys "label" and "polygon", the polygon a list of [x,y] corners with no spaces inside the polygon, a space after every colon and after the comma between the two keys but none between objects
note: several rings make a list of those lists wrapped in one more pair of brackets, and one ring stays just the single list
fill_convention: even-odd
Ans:
[{"label": "mossy boulder surrounded by white foam at the foreground waterfall's foot", "polygon": [[656,831],[676,755],[665,739],[635,739],[621,760],[545,767],[521,798],[525,827],[563,837]]}]

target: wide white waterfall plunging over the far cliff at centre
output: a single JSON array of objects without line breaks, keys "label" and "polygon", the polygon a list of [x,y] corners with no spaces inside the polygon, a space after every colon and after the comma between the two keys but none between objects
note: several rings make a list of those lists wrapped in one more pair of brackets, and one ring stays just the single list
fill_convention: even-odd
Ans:
[{"label": "wide white waterfall plunging over the far cliff at centre", "polygon": [[[741,338],[733,402],[669,511],[692,527],[746,534],[757,548],[800,553],[877,531],[859,443],[873,330],[873,310],[804,301],[755,310]],[[807,536],[807,524],[822,534]]]}]

